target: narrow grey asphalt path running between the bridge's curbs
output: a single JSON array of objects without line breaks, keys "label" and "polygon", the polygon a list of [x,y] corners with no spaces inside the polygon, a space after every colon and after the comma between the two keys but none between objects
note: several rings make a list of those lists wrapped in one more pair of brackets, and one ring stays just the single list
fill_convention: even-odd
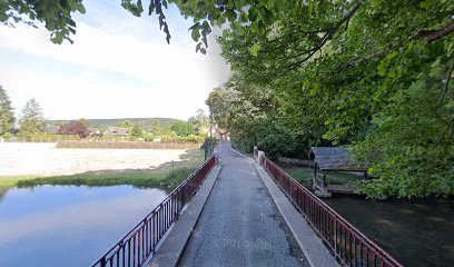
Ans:
[{"label": "narrow grey asphalt path running between the bridge's curbs", "polygon": [[250,160],[229,142],[180,266],[308,266]]}]

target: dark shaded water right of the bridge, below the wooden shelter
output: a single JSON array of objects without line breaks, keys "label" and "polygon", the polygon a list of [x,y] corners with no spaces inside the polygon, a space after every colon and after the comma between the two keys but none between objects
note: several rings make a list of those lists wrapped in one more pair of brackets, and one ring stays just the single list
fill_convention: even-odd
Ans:
[{"label": "dark shaded water right of the bridge, below the wooden shelter", "polygon": [[405,266],[454,266],[454,200],[325,201]]}]

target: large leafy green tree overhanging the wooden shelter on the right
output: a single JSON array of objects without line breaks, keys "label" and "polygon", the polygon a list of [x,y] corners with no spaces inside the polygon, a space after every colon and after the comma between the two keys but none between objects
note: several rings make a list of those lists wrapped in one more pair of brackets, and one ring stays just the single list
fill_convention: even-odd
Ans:
[{"label": "large leafy green tree overhanging the wooden shelter on the right", "polygon": [[358,185],[367,196],[453,194],[453,9],[298,1],[261,31],[236,24],[219,41],[247,85],[269,86],[279,125],[371,164],[375,179]]}]

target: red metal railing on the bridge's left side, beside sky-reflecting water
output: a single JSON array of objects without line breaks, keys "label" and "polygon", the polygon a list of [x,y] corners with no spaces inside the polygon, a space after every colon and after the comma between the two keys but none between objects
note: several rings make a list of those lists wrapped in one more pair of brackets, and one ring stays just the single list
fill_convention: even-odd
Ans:
[{"label": "red metal railing on the bridge's left side, beside sky-reflecting water", "polygon": [[201,182],[216,165],[216,156],[205,161],[184,180],[164,201],[136,227],[102,255],[92,267],[140,267],[156,251],[156,246],[179,212],[196,194]]}]

